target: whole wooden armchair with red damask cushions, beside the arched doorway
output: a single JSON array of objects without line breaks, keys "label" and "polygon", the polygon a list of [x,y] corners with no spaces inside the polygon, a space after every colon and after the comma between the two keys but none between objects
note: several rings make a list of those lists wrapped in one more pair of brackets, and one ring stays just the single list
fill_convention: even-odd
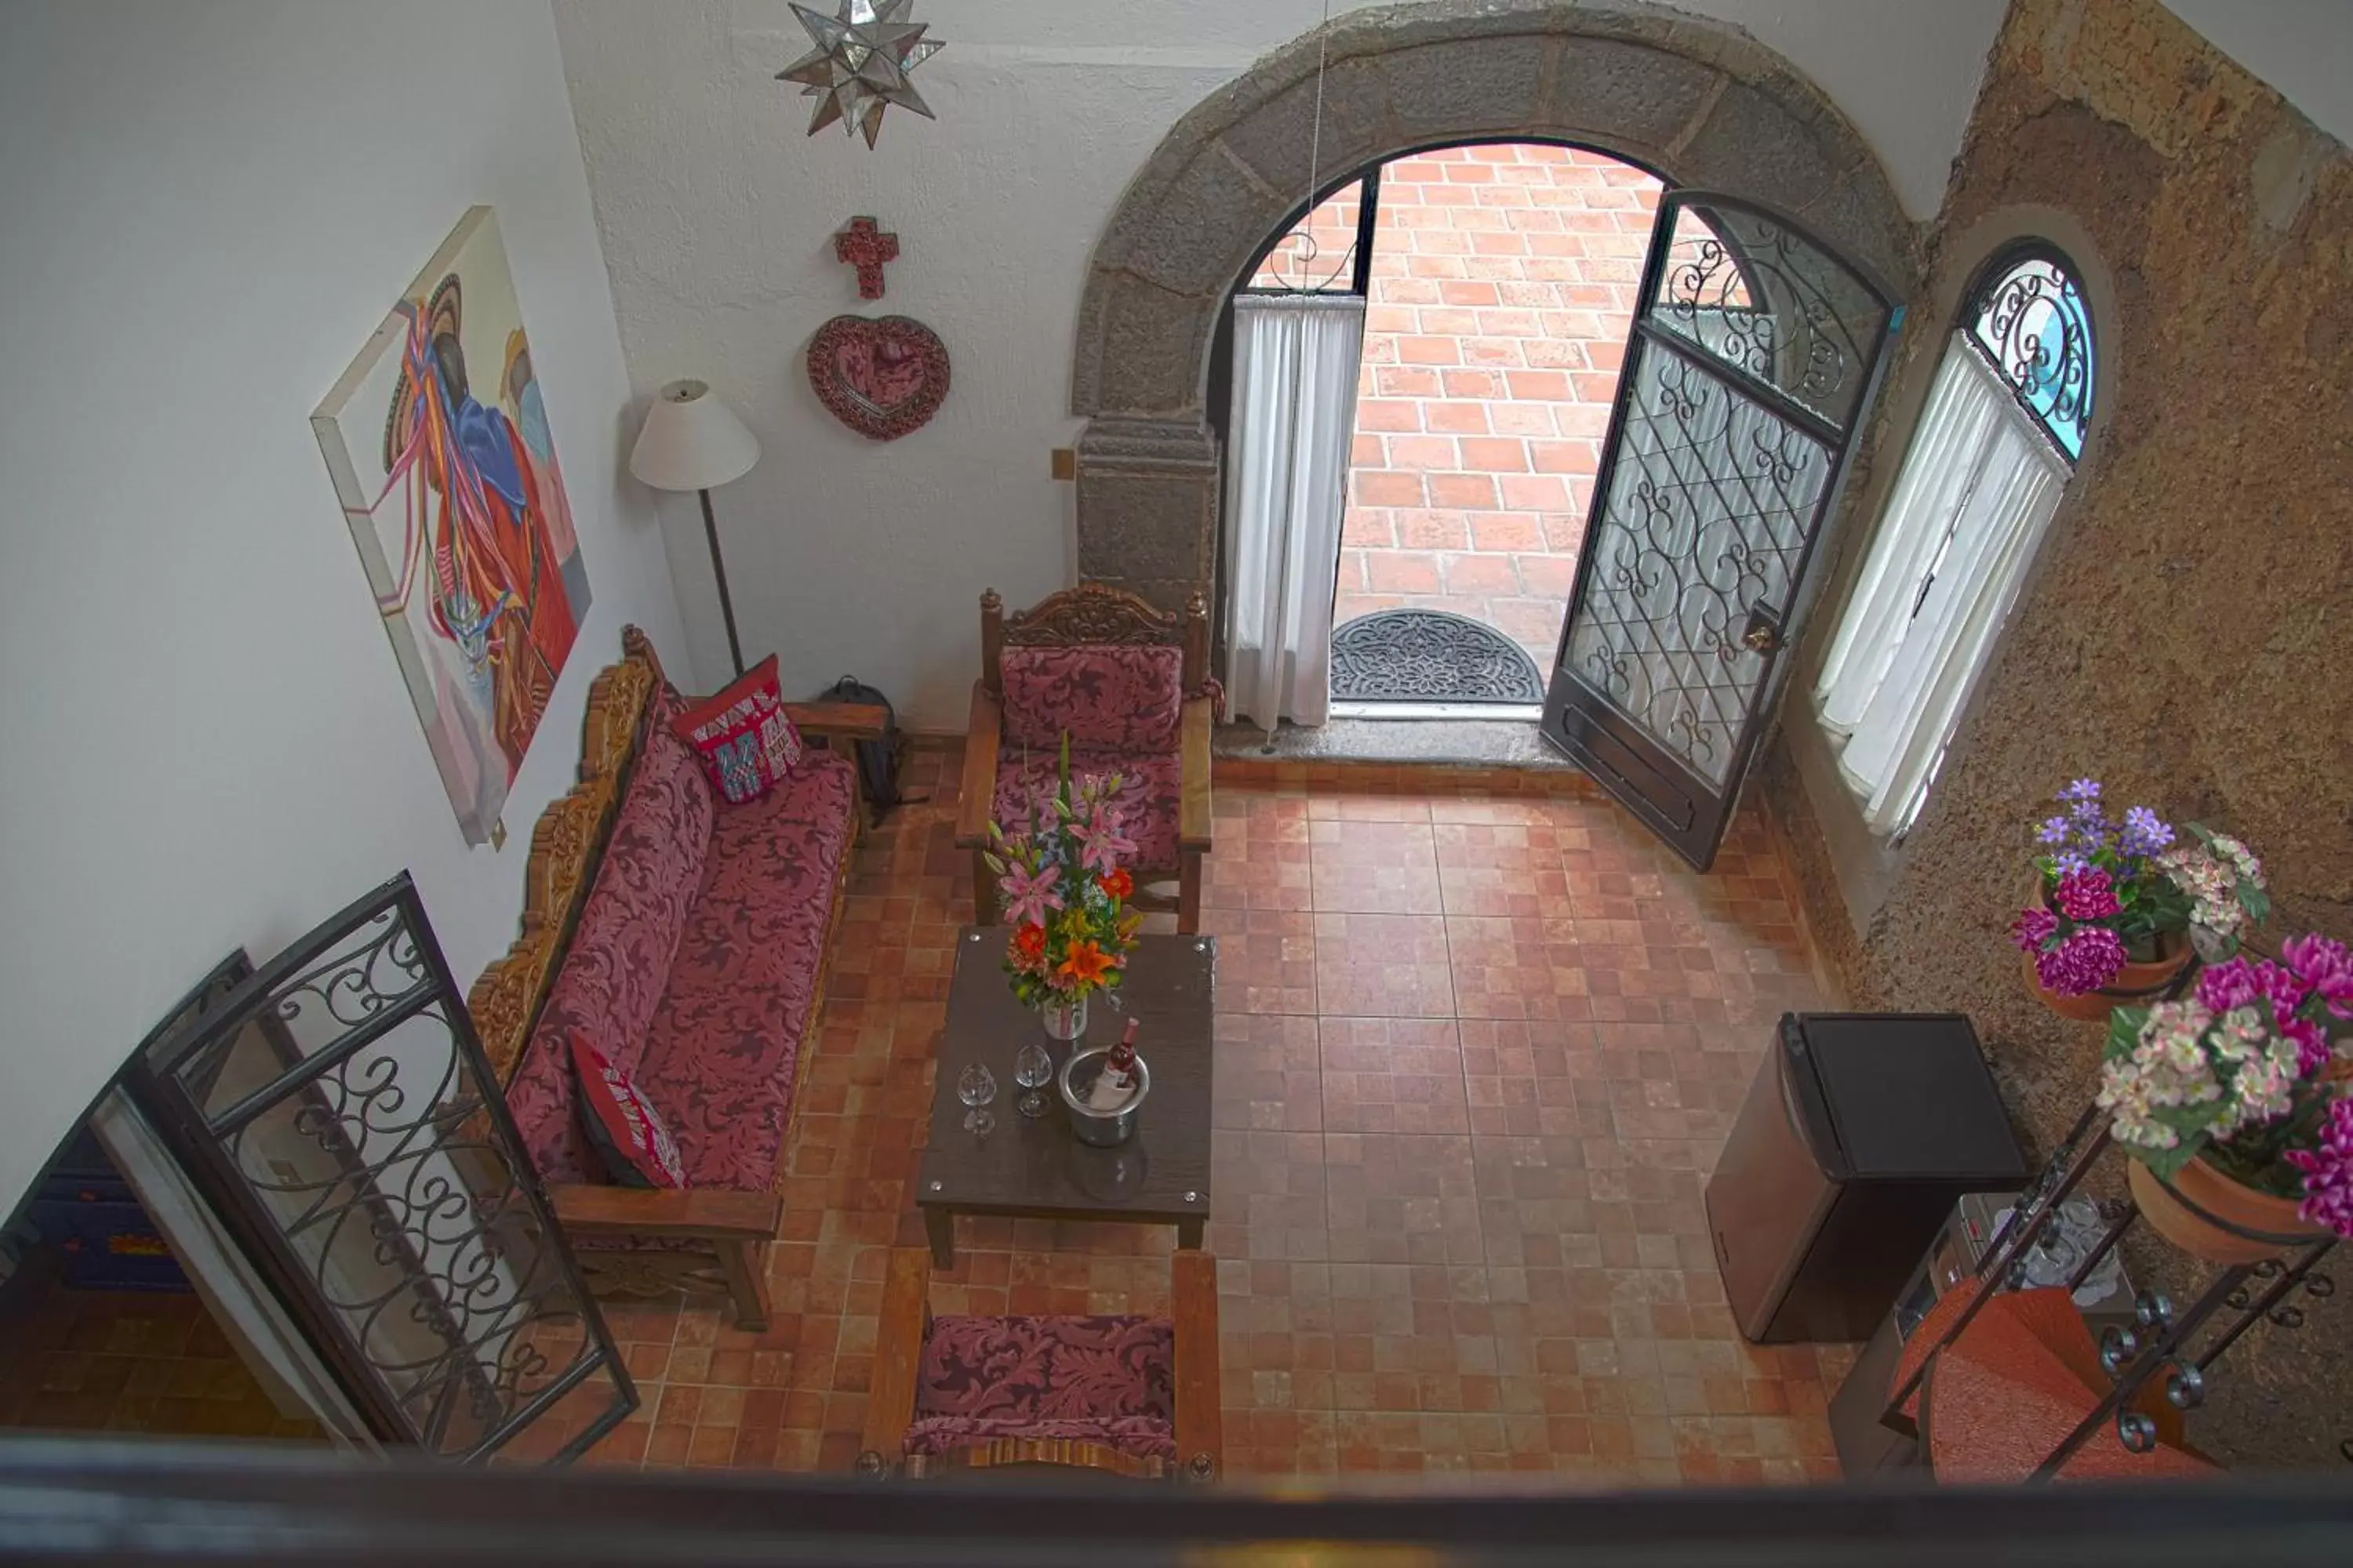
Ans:
[{"label": "whole wooden armchair with red damask cushions, beside the arched doorway", "polygon": [[[1209,609],[1181,616],[1132,592],[1085,583],[1007,616],[981,595],[981,679],[972,686],[955,842],[972,851],[972,903],[995,924],[995,879],[981,863],[988,823],[1026,825],[1054,785],[1061,736],[1071,771],[1120,773],[1113,811],[1136,842],[1134,905],[1174,910],[1200,931],[1200,863],[1209,853]],[[1176,882],[1169,898],[1160,886]]]}]

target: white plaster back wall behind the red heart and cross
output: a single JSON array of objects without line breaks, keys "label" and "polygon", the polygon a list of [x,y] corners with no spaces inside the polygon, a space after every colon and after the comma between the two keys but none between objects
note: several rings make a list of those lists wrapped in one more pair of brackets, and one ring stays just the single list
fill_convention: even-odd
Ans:
[{"label": "white plaster back wall behind the red heart and cross", "polygon": [[[1339,5],[1334,9],[1351,9]],[[1915,216],[1937,209],[2002,0],[1706,0],[1854,118]],[[845,670],[901,717],[962,729],[974,597],[1026,604],[1071,576],[1080,282],[1120,190],[1193,103],[1315,26],[1320,0],[925,0],[948,49],[918,85],[939,122],[892,110],[868,153],[805,139],[807,47],[784,0],[558,0],[598,228],[635,390],[701,376],[762,444],[713,496],[744,651],[788,689]],[[856,299],[831,235],[875,214],[899,235],[889,294]],[[915,435],[875,444],[809,393],[831,315],[906,313],[948,343],[955,390]],[[666,534],[694,665],[727,644],[692,496]]]}]

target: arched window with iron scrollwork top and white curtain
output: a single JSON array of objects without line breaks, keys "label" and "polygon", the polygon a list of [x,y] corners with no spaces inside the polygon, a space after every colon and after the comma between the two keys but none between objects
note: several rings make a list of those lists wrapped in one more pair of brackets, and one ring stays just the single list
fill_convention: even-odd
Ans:
[{"label": "arched window with iron scrollwork top and white curtain", "polygon": [[1969,292],[1814,703],[1885,835],[1911,827],[2082,456],[2097,357],[2075,268],[1995,256]]}]

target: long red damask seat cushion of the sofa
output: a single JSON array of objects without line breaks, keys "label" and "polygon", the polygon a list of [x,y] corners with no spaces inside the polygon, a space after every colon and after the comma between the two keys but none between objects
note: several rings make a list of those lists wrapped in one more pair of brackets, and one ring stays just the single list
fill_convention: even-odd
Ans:
[{"label": "long red damask seat cushion of the sofa", "polygon": [[833,884],[849,853],[852,766],[809,752],[779,788],[718,813],[638,1081],[689,1187],[767,1192],[816,999]]}]

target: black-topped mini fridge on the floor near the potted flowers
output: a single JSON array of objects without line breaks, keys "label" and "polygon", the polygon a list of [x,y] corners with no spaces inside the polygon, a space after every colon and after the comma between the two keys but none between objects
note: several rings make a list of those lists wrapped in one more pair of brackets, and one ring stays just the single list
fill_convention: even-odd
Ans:
[{"label": "black-topped mini fridge on the floor near the potted flowers", "polygon": [[1965,1192],[2026,1157],[1960,1013],[1784,1013],[1708,1178],[1751,1340],[1868,1340]]}]

